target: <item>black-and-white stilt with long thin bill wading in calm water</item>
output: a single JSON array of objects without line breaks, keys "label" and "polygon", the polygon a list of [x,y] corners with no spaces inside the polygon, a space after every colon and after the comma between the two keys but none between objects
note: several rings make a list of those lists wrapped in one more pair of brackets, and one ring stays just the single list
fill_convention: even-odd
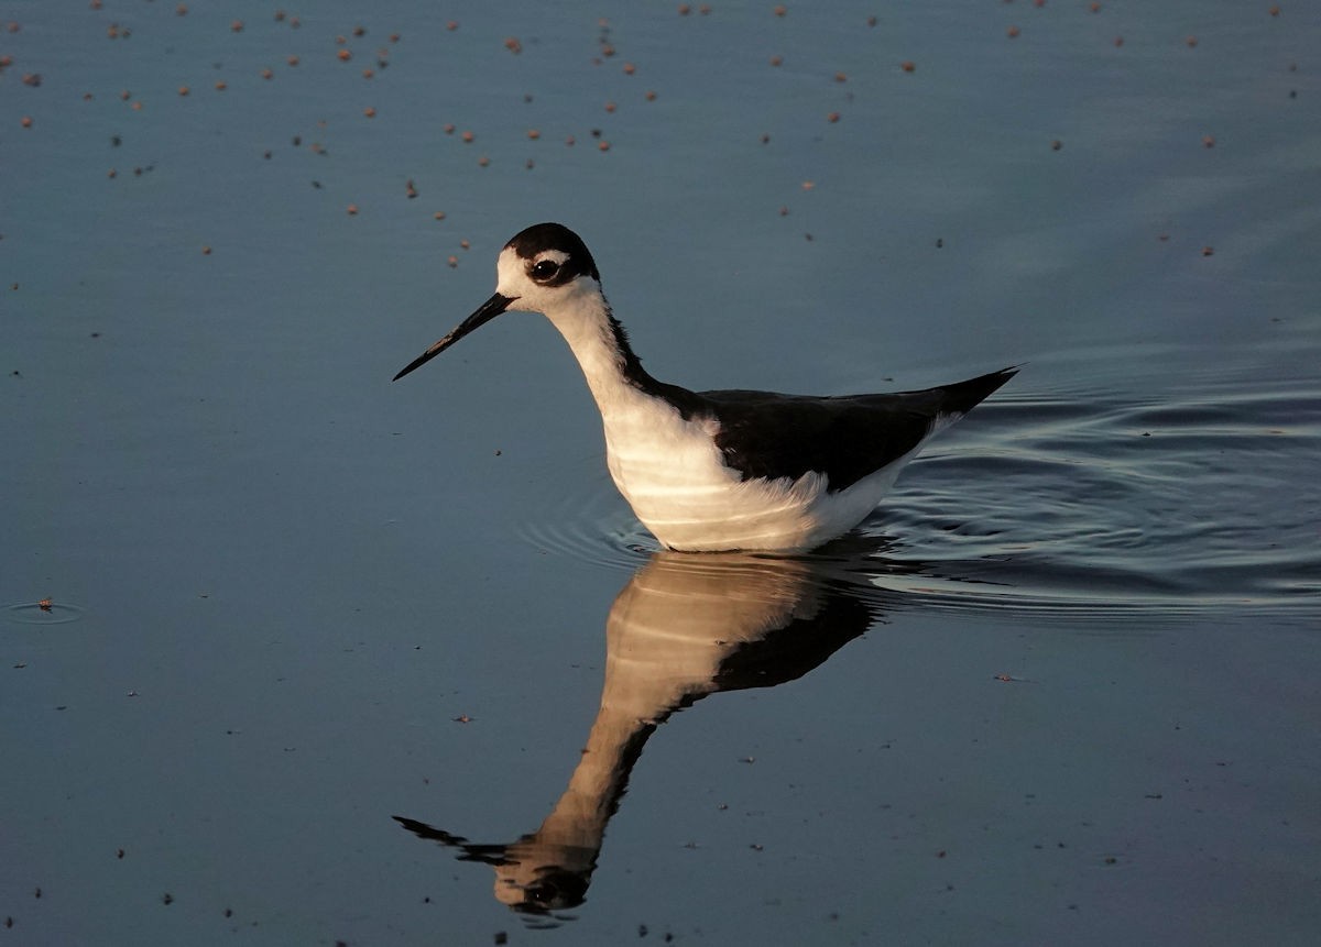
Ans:
[{"label": "black-and-white stilt with long thin bill wading in calm water", "polygon": [[692,392],[642,367],[592,253],[568,227],[520,231],[495,273],[495,293],[394,380],[502,313],[542,313],[601,412],[616,487],[659,543],[682,553],[801,554],[843,535],[933,435],[1018,371],[888,394]]}]

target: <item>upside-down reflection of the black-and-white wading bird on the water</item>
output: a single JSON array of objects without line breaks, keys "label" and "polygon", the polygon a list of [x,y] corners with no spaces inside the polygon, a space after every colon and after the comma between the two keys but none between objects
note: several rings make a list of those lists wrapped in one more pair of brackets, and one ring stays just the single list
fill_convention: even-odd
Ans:
[{"label": "upside-down reflection of the black-and-white wading bird on the water", "polygon": [[395,819],[461,861],[491,865],[497,900],[553,923],[555,911],[585,900],[606,824],[657,727],[708,694],[802,677],[878,621],[885,595],[820,557],[657,553],[610,608],[601,708],[542,826],[517,841],[477,844]]}]

